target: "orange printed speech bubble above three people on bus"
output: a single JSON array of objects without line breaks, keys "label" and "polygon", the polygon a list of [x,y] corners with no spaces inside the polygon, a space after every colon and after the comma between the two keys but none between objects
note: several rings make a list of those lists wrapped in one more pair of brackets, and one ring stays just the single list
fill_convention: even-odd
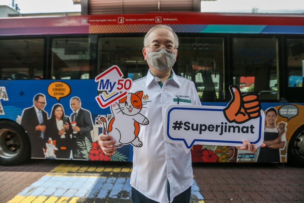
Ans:
[{"label": "orange printed speech bubble above three people on bus", "polygon": [[66,97],[71,93],[71,88],[65,82],[60,82],[60,81],[52,82],[47,87],[47,93],[51,97],[55,97],[56,100],[59,101],[60,98]]}]

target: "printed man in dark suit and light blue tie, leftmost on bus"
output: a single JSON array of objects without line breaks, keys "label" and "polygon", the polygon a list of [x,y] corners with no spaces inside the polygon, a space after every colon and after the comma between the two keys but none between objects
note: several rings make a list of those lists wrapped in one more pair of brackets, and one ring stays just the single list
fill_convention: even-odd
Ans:
[{"label": "printed man in dark suit and light blue tie, leftmost on bus", "polygon": [[22,112],[21,126],[27,131],[31,144],[32,157],[43,157],[41,150],[45,147],[47,140],[45,133],[48,114],[44,111],[47,104],[44,94],[36,94],[33,99],[33,106]]}]

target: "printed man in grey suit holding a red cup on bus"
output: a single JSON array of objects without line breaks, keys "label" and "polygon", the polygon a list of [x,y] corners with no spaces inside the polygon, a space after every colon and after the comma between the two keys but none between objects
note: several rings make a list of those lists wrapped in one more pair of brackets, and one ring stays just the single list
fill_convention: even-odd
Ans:
[{"label": "printed man in grey suit holding a red cup on bus", "polygon": [[74,96],[70,100],[71,109],[71,124],[72,124],[72,142],[73,142],[73,158],[83,159],[81,148],[78,143],[92,143],[91,131],[93,130],[93,121],[91,112],[81,108],[81,100]]}]

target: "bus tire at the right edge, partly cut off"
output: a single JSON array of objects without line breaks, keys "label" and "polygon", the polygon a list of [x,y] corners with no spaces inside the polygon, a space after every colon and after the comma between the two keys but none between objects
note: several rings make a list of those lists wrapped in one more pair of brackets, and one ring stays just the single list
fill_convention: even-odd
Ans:
[{"label": "bus tire at the right edge, partly cut off", "polygon": [[304,168],[304,126],[295,131],[288,144],[287,161]]}]

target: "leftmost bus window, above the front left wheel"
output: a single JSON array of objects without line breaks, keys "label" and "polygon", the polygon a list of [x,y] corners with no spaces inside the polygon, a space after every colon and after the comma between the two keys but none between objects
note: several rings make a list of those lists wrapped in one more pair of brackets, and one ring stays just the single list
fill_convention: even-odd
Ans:
[{"label": "leftmost bus window, above the front left wheel", "polygon": [[43,39],[0,40],[0,78],[42,79],[43,45]]}]

